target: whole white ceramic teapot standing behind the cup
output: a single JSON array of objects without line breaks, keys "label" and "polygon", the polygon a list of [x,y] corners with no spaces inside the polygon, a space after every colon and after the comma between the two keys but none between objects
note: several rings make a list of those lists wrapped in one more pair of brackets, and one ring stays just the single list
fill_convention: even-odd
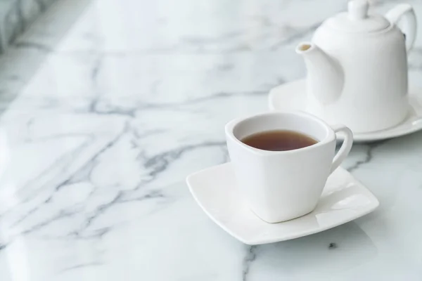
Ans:
[{"label": "whole white ceramic teapot standing behind the cup", "polygon": [[350,1],[346,13],[323,22],[312,43],[296,48],[308,72],[307,111],[359,133],[388,129],[407,116],[407,51],[416,35],[410,5],[385,17],[368,8],[366,0]]}]

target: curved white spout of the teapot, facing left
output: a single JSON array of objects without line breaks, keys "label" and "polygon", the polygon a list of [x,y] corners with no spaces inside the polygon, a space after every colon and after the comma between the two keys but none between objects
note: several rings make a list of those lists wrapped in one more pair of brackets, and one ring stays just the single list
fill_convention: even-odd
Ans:
[{"label": "curved white spout of the teapot, facing left", "polygon": [[308,93],[323,104],[337,100],[343,91],[343,68],[314,43],[299,44],[296,53],[305,60]]}]

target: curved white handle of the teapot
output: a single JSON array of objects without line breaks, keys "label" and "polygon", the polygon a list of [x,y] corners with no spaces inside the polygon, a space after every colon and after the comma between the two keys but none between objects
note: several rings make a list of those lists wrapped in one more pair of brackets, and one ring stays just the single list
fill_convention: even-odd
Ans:
[{"label": "curved white handle of the teapot", "polygon": [[414,8],[409,4],[399,4],[385,14],[385,18],[397,24],[403,17],[402,32],[406,36],[406,49],[410,51],[416,39],[416,15]]}]

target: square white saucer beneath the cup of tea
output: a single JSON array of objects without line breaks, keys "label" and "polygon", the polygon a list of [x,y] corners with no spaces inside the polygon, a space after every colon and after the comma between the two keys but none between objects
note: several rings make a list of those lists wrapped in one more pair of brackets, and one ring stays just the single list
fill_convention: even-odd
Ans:
[{"label": "square white saucer beneath the cup of tea", "polygon": [[236,188],[231,163],[198,171],[186,178],[196,202],[215,221],[245,244],[265,244],[319,233],[370,213],[378,200],[345,169],[328,178],[311,213],[283,223],[266,223],[250,211]]}]

